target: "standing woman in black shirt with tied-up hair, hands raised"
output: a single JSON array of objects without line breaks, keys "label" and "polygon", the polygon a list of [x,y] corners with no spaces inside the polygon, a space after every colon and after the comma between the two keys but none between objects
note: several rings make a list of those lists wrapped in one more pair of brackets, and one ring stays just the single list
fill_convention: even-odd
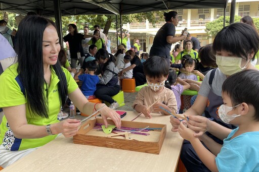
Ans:
[{"label": "standing woman in black shirt with tied-up hair, hands raised", "polygon": [[157,31],[150,49],[149,56],[160,56],[165,58],[170,66],[170,50],[172,43],[184,40],[186,35],[175,37],[176,27],[178,25],[178,14],[175,11],[164,13],[166,23]]}]

